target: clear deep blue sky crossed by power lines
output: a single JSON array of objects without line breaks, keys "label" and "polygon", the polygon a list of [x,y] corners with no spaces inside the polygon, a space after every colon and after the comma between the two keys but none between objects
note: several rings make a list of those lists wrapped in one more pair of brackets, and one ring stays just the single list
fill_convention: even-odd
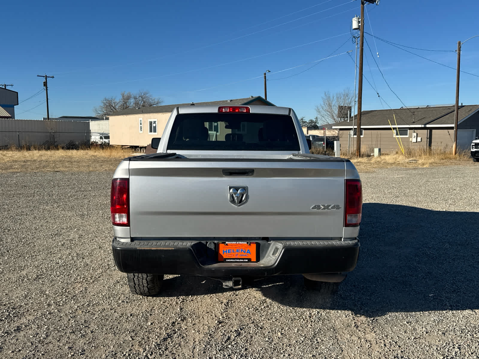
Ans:
[{"label": "clear deep blue sky crossed by power lines", "polygon": [[[48,81],[50,117],[92,115],[103,97],[123,90],[149,90],[163,104],[263,96],[268,69],[268,100],[306,119],[316,115],[324,91],[354,88],[354,62],[343,53],[352,50],[354,59],[350,26],[359,0],[9,1],[2,10],[8,21],[2,27],[7,55],[0,58],[0,82],[13,83],[23,101],[42,90],[36,75],[54,75]],[[479,34],[478,13],[477,0],[460,6],[381,0],[366,5],[365,31],[400,45],[449,50],[408,49],[456,68],[457,41]],[[454,69],[365,38],[407,106],[455,101]],[[342,55],[311,67],[331,54]],[[464,44],[461,70],[479,75],[478,60],[479,37]],[[364,75],[389,106],[402,106],[366,45]],[[462,73],[459,101],[478,104],[478,84],[479,77]],[[39,92],[22,102],[16,118],[46,116],[44,101]],[[364,81],[363,109],[382,108],[388,106]]]}]

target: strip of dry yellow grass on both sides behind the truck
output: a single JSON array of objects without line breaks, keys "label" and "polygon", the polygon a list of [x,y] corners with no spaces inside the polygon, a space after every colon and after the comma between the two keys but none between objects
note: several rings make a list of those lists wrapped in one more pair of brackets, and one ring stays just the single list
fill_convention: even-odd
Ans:
[{"label": "strip of dry yellow grass on both sides behind the truck", "polygon": [[[0,173],[5,172],[89,172],[114,171],[122,158],[134,155],[129,148],[106,147],[80,150],[0,150]],[[329,153],[329,155],[333,155]],[[343,157],[346,157],[343,154]],[[452,156],[450,151],[416,151],[384,154],[381,157],[350,157],[359,172],[373,172],[377,168],[422,168],[469,164],[468,152]]]}]

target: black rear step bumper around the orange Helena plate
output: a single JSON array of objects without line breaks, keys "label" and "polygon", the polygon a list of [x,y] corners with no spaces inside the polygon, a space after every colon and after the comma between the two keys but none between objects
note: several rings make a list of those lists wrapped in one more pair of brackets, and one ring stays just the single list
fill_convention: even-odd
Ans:
[{"label": "black rear step bumper around the orange Helena plate", "polygon": [[349,272],[356,266],[359,240],[272,240],[260,244],[256,263],[218,263],[212,243],[192,240],[120,242],[113,238],[116,266],[126,273],[206,277]]}]

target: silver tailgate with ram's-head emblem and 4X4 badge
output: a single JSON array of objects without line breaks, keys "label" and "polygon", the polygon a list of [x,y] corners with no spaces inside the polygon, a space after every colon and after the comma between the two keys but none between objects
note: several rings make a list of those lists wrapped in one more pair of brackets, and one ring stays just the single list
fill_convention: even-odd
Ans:
[{"label": "silver tailgate with ram's-head emblem and 4X4 badge", "polygon": [[[131,237],[342,237],[342,161],[130,161],[129,173]],[[248,201],[231,203],[229,186]]]}]

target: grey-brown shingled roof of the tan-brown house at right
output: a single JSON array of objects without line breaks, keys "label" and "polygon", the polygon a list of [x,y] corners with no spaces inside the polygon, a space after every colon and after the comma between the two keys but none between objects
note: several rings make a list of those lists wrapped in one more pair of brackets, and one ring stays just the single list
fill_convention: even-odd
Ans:
[{"label": "grey-brown shingled roof of the tan-brown house at right", "polygon": [[[479,110],[479,105],[459,106],[458,121],[461,121],[471,113]],[[396,123],[399,126],[404,125],[451,125],[454,126],[454,105],[421,107],[408,109],[395,109]],[[361,112],[361,127],[389,126],[389,121],[394,124],[393,111],[391,110],[372,110]],[[350,127],[352,121],[343,121],[334,125],[334,128]]]}]

